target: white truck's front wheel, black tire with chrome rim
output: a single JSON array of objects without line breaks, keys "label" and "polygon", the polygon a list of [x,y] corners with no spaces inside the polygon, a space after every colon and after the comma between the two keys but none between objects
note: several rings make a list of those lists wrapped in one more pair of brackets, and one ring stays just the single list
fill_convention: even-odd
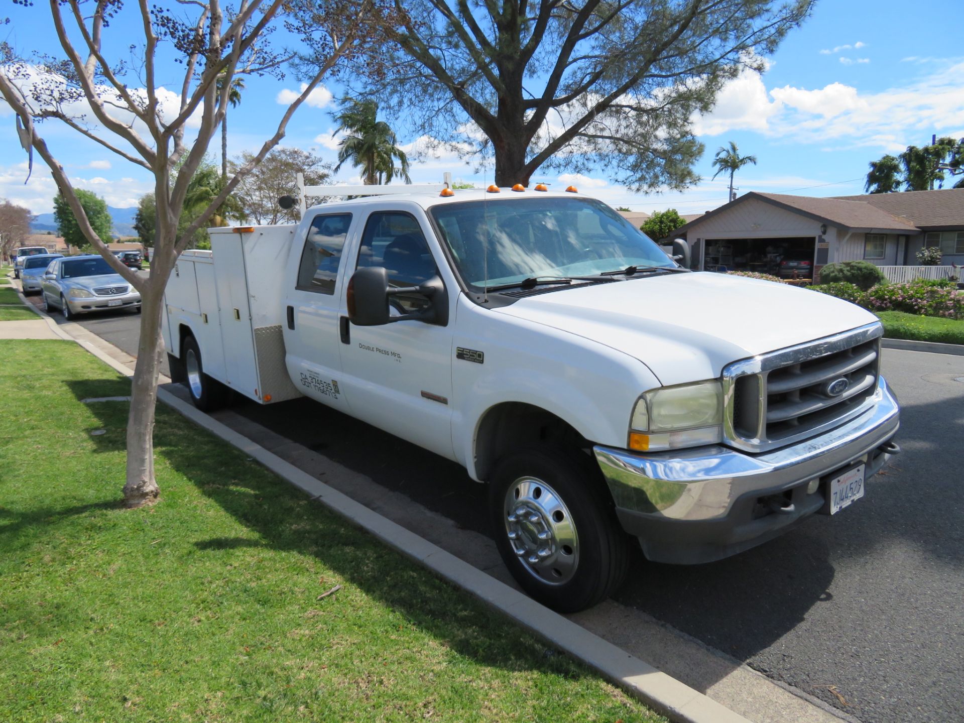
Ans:
[{"label": "white truck's front wheel, black tire with chrome rim", "polygon": [[507,455],[489,485],[495,545],[522,589],[560,612],[603,602],[626,578],[627,538],[599,469],[540,444]]}]

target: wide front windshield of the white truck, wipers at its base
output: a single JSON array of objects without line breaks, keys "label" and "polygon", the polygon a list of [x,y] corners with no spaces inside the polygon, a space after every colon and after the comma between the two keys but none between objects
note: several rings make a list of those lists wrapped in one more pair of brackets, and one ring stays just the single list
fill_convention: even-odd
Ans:
[{"label": "wide front windshield of the white truck, wipers at its base", "polygon": [[463,281],[477,289],[629,266],[675,268],[646,234],[592,199],[465,201],[431,214]]}]

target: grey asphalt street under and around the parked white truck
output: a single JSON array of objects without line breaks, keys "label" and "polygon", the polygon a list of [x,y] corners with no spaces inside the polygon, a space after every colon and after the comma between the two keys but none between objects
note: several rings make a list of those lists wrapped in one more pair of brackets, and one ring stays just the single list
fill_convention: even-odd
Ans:
[{"label": "grey asphalt street under and around the parked white truck", "polygon": [[[134,355],[138,319],[79,323]],[[617,600],[865,723],[951,723],[964,719],[964,357],[888,349],[883,371],[903,454],[864,498],[710,565],[640,556]],[[235,411],[488,532],[482,486],[453,463],[305,399]]]}]

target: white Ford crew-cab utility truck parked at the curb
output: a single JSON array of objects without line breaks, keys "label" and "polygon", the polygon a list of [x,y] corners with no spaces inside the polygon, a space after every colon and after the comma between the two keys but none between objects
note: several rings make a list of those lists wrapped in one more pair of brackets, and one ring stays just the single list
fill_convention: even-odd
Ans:
[{"label": "white Ford crew-cab utility truck parked at the curb", "polygon": [[690,272],[601,201],[516,188],[211,229],[167,287],[174,379],[203,410],[305,395],[455,460],[559,610],[614,592],[633,537],[718,560],[843,509],[899,451],[868,311]]}]

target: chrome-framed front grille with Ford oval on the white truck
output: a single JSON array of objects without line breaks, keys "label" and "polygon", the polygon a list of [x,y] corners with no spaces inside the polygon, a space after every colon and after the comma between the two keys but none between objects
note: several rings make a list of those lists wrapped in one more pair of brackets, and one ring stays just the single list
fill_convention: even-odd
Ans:
[{"label": "chrome-framed front grille with Ford oval on the white truck", "polygon": [[877,388],[879,324],[723,370],[727,442],[764,451],[815,436],[864,412]]}]

